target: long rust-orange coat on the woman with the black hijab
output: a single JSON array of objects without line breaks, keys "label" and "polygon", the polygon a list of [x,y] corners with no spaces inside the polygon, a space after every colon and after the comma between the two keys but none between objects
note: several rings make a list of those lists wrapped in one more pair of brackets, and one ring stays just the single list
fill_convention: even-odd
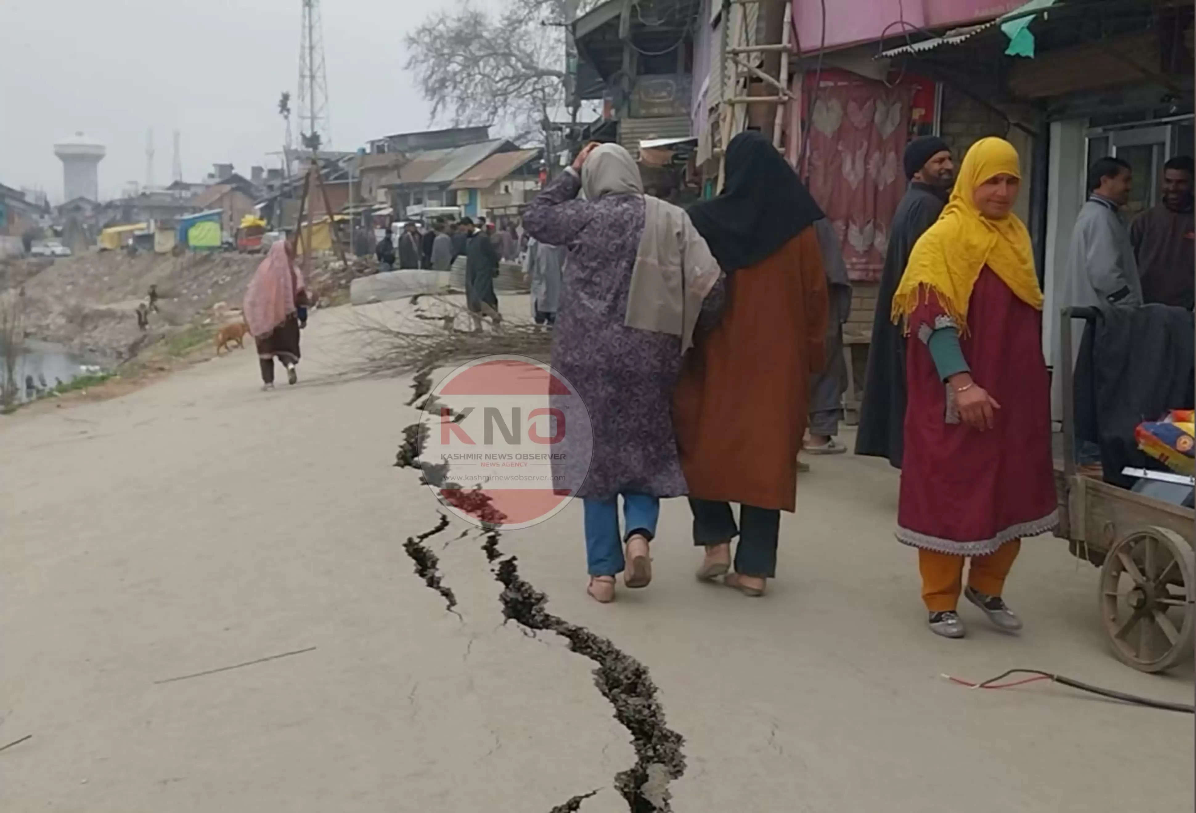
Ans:
[{"label": "long rust-orange coat on the woman with the black hijab", "polygon": [[673,422],[689,495],[792,512],[826,276],[812,227],[731,275],[722,319],[682,371]]}]

